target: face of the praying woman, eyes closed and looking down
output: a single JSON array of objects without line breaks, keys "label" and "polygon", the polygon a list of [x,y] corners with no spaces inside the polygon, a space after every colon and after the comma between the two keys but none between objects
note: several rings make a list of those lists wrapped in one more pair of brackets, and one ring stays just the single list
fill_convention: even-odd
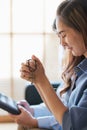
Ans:
[{"label": "face of the praying woman, eyes closed and looking down", "polygon": [[84,40],[78,31],[65,25],[61,20],[56,21],[57,35],[60,38],[60,44],[64,48],[71,50],[74,56],[84,55],[87,57],[87,49]]}]

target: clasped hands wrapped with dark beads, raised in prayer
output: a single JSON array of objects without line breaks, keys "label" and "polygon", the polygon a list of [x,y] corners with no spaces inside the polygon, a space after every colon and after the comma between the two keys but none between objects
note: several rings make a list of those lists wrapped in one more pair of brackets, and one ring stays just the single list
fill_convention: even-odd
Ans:
[{"label": "clasped hands wrapped with dark beads, raised in prayer", "polygon": [[30,60],[27,60],[26,63],[21,64],[20,72],[21,78],[31,83],[39,83],[41,78],[45,75],[41,61],[34,55]]}]

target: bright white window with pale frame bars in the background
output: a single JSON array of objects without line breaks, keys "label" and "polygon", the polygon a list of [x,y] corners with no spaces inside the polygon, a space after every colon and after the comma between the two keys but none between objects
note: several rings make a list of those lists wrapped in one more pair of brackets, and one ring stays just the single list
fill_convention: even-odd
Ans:
[{"label": "bright white window with pale frame bars in the background", "polygon": [[58,40],[51,27],[60,1],[0,0],[1,92],[23,97],[26,81],[20,78],[20,65],[32,54],[41,59],[49,80],[58,79]]}]

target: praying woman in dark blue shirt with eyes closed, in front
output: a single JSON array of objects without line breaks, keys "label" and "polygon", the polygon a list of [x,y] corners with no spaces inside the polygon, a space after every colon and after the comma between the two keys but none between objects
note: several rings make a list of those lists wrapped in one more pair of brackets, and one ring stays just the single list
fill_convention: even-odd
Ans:
[{"label": "praying woman in dark blue shirt with eyes closed, in front", "polygon": [[[23,63],[21,67],[21,77],[31,82],[33,80],[36,89],[55,116],[62,130],[87,130],[87,115],[85,114],[87,112],[86,10],[76,1],[62,2],[56,13],[56,27],[60,44],[65,49],[68,48],[75,57],[85,56],[85,59],[75,68],[77,79],[73,85],[74,87],[72,88],[68,105],[64,105],[55,94],[45,74],[43,65],[36,56],[32,56],[32,60],[35,61],[37,65],[37,69],[33,72],[33,77],[32,72],[28,68],[28,64],[25,63]],[[34,68],[34,64],[31,64],[31,67]],[[20,109],[21,111],[23,110],[22,107]],[[22,117],[22,114],[20,116]],[[27,114],[25,116],[29,117]],[[30,124],[31,122],[32,119],[30,120]],[[33,118],[33,126],[38,126],[35,118]]]}]

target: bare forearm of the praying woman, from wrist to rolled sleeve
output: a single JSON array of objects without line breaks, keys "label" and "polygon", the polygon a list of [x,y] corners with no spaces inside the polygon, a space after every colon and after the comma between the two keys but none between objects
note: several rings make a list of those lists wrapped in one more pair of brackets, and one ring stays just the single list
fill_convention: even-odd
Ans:
[{"label": "bare forearm of the praying woman, from wrist to rolled sleeve", "polygon": [[64,104],[55,94],[55,91],[52,88],[47,77],[44,77],[43,81],[39,84],[35,84],[35,86],[40,90],[40,94],[43,95],[44,100],[46,101],[57,121],[62,124],[63,114],[67,110],[67,107],[64,106]]}]

